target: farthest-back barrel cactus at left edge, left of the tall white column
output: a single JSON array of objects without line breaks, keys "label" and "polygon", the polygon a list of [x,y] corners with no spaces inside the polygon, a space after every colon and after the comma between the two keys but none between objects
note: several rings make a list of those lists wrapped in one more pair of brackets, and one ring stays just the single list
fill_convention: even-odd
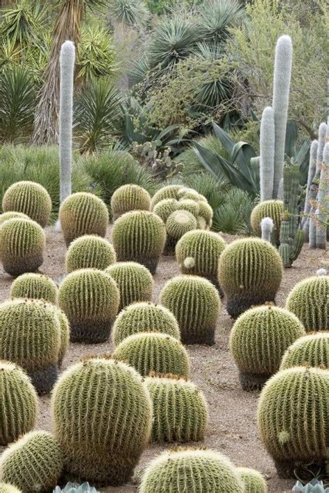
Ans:
[{"label": "farthest-back barrel cactus at left edge, left of the tall white column", "polygon": [[2,200],[3,212],[22,212],[45,227],[51,213],[51,198],[39,183],[16,182],[5,192]]}]

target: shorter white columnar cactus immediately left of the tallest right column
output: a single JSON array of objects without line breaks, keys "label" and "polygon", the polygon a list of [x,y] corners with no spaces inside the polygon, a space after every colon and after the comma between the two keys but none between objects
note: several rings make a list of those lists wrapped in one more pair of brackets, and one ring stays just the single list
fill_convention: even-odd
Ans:
[{"label": "shorter white columnar cactus immediately left of the tallest right column", "polygon": [[275,155],[274,112],[271,106],[264,109],[260,122],[260,200],[272,200]]}]

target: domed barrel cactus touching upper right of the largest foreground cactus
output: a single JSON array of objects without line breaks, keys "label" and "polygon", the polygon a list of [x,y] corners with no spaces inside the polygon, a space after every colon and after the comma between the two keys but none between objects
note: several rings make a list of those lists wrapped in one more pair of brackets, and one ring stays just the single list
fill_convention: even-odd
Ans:
[{"label": "domed barrel cactus touching upper right of the largest foreground cactus", "polygon": [[185,347],[167,334],[133,334],[116,347],[113,356],[135,367],[144,377],[150,372],[189,376],[189,356]]}]

